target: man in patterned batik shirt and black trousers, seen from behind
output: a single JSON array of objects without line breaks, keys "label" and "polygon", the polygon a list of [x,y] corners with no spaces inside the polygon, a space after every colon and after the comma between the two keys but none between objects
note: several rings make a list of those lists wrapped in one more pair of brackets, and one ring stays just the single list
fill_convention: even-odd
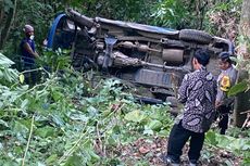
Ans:
[{"label": "man in patterned batik shirt and black trousers, seen from behind", "polygon": [[190,138],[188,157],[196,165],[204,142],[204,133],[215,115],[216,80],[205,68],[210,55],[205,50],[197,50],[192,65],[195,72],[185,75],[178,89],[178,101],[185,104],[171,130],[167,145],[167,164],[179,165],[182,150]]}]

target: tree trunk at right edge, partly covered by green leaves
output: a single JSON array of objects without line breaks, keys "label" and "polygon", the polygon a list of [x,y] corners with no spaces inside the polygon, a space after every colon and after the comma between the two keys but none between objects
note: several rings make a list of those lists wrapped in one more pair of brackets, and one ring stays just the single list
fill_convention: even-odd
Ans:
[{"label": "tree trunk at right edge, partly covered by green leaves", "polygon": [[[242,2],[242,9],[241,9],[241,15],[240,15],[240,25],[239,25],[239,35],[243,36],[248,39],[250,39],[250,0],[243,0]],[[239,54],[240,56],[243,56],[247,59],[247,61],[250,61],[249,53],[250,49],[249,40],[245,40],[245,42],[240,43],[239,46]],[[243,78],[248,78],[249,73],[239,71],[238,81],[241,81]],[[250,110],[250,90],[247,92],[242,92],[236,97],[236,105],[235,105],[235,123],[234,125],[237,127],[241,127],[246,115],[241,115],[241,112]]]}]

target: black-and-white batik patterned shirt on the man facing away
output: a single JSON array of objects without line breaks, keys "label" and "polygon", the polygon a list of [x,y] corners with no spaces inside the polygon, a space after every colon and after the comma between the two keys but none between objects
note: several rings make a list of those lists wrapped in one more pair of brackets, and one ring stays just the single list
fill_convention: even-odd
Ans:
[{"label": "black-and-white batik patterned shirt on the man facing away", "polygon": [[193,132],[205,132],[215,115],[216,80],[201,67],[185,75],[178,89],[178,100],[185,104],[182,125]]}]

